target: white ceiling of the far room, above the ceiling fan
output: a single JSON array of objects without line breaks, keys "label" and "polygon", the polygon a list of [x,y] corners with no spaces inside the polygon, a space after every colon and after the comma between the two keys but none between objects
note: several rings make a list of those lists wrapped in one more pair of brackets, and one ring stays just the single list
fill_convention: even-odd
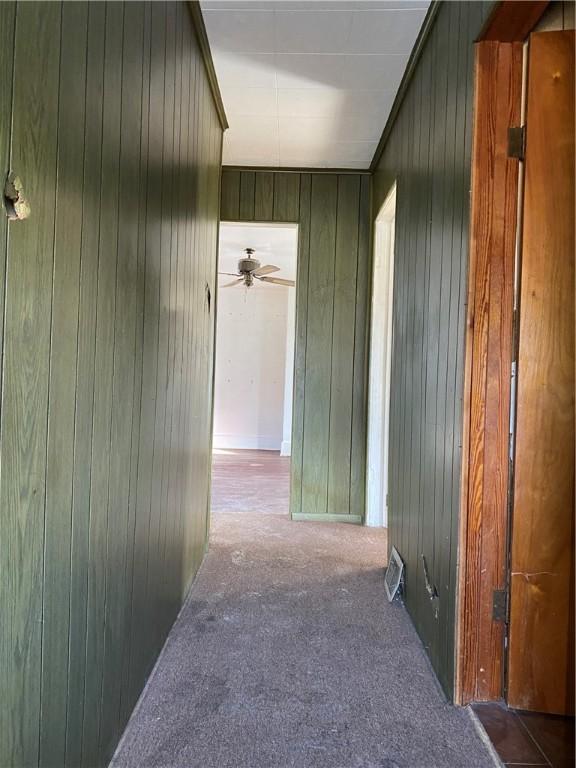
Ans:
[{"label": "white ceiling of the far room, above the ceiling fan", "polygon": [[[274,264],[280,267],[273,277],[296,280],[297,247],[298,227],[295,224],[221,224],[218,271],[236,273],[238,261],[245,256],[244,248],[254,248],[254,258],[262,266]],[[230,278],[220,276],[220,282],[230,282]]]}]

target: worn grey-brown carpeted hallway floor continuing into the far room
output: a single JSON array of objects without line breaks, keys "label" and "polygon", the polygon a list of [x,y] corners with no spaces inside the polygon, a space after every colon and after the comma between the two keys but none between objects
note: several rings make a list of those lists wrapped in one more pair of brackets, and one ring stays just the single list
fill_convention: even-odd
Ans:
[{"label": "worn grey-brown carpeted hallway floor continuing into the far room", "polygon": [[215,457],[210,552],[112,765],[498,765],[385,599],[385,532],[291,522],[288,468]]}]

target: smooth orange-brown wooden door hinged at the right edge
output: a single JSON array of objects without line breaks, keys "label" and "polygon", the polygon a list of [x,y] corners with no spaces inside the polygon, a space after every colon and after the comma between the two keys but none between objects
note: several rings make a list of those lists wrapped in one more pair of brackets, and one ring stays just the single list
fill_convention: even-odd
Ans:
[{"label": "smooth orange-brown wooden door hinged at the right edge", "polygon": [[574,32],[530,38],[508,704],[574,707]]}]

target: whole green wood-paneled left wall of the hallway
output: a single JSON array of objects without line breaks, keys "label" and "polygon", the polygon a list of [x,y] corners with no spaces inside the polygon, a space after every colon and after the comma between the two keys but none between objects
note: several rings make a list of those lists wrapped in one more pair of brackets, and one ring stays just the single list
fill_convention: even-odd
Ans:
[{"label": "whole green wood-paneled left wall of the hallway", "polygon": [[205,550],[222,130],[185,3],[0,43],[0,765],[92,768]]}]

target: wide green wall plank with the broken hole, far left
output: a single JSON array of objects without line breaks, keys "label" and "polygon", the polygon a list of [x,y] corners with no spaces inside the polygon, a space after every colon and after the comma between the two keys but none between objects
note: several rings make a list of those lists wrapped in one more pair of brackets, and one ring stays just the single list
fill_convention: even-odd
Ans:
[{"label": "wide green wall plank with the broken hole, far left", "polygon": [[10,165],[25,185],[32,215],[8,225],[3,286],[0,764],[10,766],[39,759],[60,10],[19,5],[12,49],[15,71],[27,77],[14,90]]}]

